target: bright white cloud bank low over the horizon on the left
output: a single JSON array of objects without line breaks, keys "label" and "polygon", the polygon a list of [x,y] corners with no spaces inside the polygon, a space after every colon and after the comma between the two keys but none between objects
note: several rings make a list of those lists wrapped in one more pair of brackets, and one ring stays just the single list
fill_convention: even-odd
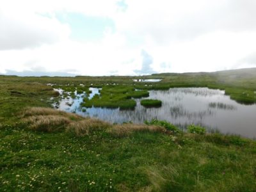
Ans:
[{"label": "bright white cloud bank low over the horizon on the left", "polygon": [[[113,39],[117,41],[111,42]],[[115,38],[110,35],[99,43],[65,40],[58,44],[42,45],[33,50],[0,51],[0,58],[1,68],[17,71],[43,66],[49,72],[72,68],[83,75],[106,75],[113,70],[118,70],[120,74],[131,74],[135,66],[125,62],[136,52],[125,48],[122,37]]]}]

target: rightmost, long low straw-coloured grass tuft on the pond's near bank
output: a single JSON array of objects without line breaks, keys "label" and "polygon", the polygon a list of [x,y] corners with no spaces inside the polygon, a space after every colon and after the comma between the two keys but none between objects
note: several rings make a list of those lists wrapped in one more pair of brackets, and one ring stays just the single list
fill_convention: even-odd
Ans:
[{"label": "rightmost, long low straw-coloured grass tuft on the pond's near bank", "polygon": [[113,136],[123,137],[132,134],[132,132],[165,132],[163,127],[157,125],[140,125],[140,124],[122,124],[114,125],[108,132]]}]

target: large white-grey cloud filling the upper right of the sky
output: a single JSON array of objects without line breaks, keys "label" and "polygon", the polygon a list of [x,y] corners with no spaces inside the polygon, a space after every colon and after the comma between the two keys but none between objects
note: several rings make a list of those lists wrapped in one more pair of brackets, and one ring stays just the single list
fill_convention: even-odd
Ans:
[{"label": "large white-grey cloud filling the upper right of the sky", "polygon": [[159,44],[190,40],[213,31],[256,29],[253,0],[127,0],[127,11],[116,17],[125,33],[150,36]]}]

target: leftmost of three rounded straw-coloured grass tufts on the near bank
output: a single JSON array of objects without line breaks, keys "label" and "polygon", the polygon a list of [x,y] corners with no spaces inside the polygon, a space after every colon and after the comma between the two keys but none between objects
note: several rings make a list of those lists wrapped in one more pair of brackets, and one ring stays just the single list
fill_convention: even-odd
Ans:
[{"label": "leftmost of three rounded straw-coloured grass tufts on the near bank", "polygon": [[35,131],[56,132],[65,129],[71,120],[60,115],[36,115],[29,116],[24,120]]}]

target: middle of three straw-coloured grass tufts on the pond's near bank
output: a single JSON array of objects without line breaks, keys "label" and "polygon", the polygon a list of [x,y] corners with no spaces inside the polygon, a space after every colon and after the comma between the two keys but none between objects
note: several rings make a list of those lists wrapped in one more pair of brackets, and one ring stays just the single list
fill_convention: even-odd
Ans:
[{"label": "middle of three straw-coloured grass tufts on the pond's near bank", "polygon": [[99,131],[101,129],[106,129],[110,124],[98,120],[95,118],[86,118],[79,122],[72,122],[67,127],[67,132],[75,134],[76,136],[90,135],[94,131]]}]

